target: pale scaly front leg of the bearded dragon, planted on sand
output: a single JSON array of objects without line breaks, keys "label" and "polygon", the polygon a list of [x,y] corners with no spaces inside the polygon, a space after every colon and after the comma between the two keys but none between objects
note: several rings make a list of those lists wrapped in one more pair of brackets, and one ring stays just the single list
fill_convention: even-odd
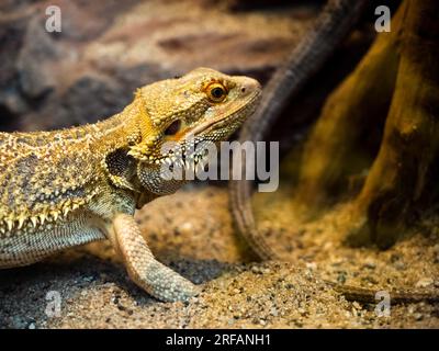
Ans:
[{"label": "pale scaly front leg of the bearded dragon, planted on sand", "polygon": [[165,302],[188,301],[198,294],[194,284],[156,260],[132,216],[117,214],[111,231],[128,275],[148,294]]}]

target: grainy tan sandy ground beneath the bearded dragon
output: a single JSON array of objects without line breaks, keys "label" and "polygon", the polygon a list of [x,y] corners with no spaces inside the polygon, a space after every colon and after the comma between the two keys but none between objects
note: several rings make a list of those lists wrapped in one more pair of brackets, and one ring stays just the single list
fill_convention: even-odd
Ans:
[{"label": "grainy tan sandy ground beneath the bearded dragon", "polygon": [[[438,328],[439,306],[348,302],[322,279],[374,290],[439,285],[438,233],[416,234],[387,251],[340,244],[328,215],[297,230],[289,224],[289,193],[260,196],[268,240],[291,262],[249,262],[237,239],[223,188],[190,186],[137,214],[158,258],[203,292],[190,303],[161,303],[137,288],[106,242],[46,262],[0,272],[3,328]],[[262,207],[258,207],[259,210]],[[290,216],[291,217],[291,216]],[[270,222],[268,220],[270,218]],[[275,226],[273,226],[275,224]],[[247,263],[246,263],[247,262]],[[58,316],[49,292],[59,293]],[[52,293],[53,294],[53,293]]]}]

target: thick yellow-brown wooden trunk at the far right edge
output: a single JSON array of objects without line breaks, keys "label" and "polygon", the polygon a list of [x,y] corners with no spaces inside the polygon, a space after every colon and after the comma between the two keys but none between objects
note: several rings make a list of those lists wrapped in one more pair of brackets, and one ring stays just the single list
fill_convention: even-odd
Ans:
[{"label": "thick yellow-brown wooden trunk at the far right edge", "polygon": [[[405,219],[437,181],[439,156],[439,7],[434,0],[407,0],[401,59],[383,143],[358,197],[371,239],[389,247]],[[423,197],[423,205],[427,205]]]}]

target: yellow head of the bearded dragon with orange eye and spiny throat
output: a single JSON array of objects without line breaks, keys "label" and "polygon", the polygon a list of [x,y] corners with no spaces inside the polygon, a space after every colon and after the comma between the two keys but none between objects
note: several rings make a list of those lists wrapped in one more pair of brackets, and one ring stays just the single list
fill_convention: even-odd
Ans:
[{"label": "yellow head of the bearded dragon with orange eye and spiny throat", "polygon": [[128,152],[138,160],[140,184],[159,195],[175,192],[181,182],[161,179],[161,166],[196,165],[202,155],[192,150],[226,140],[252,114],[260,93],[255,79],[209,68],[140,88],[134,101],[140,138]]}]

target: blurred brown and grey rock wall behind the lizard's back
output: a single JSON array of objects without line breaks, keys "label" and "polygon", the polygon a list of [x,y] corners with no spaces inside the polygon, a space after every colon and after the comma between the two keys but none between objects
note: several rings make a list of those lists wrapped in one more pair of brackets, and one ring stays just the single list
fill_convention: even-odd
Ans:
[{"label": "blurred brown and grey rock wall behind the lizard's back", "polygon": [[[318,11],[286,1],[0,2],[0,129],[92,123],[133,91],[209,66],[266,81]],[[61,32],[45,30],[48,5]]]}]

